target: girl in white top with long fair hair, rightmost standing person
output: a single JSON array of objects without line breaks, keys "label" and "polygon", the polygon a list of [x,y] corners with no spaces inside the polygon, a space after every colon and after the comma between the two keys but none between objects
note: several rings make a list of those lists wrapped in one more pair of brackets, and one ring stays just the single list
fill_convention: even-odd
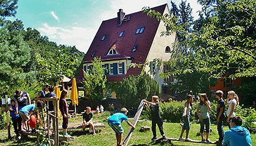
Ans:
[{"label": "girl in white top with long fair hair, rightmost standing person", "polygon": [[[235,91],[228,91],[227,92],[227,123],[229,123],[230,119],[235,117],[235,107],[239,104],[239,98],[236,95]],[[230,128],[230,125],[229,125]]]}]

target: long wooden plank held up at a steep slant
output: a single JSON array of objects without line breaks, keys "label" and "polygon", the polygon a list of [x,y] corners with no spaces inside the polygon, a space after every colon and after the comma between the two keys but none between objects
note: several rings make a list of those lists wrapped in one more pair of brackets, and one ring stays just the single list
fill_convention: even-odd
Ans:
[{"label": "long wooden plank held up at a steep slant", "polygon": [[[135,116],[133,118],[132,125],[135,126],[137,124],[138,119],[140,118],[141,111],[143,110],[144,104],[145,103],[143,101],[140,102],[138,110],[137,110],[137,112],[136,112],[136,114],[135,114]],[[124,146],[127,146],[128,142],[130,141],[130,137],[132,136],[132,132],[133,132],[133,129],[132,129],[132,127],[130,127],[129,131],[128,131],[127,135],[126,135],[126,138],[124,139],[124,142],[123,142]]]}]

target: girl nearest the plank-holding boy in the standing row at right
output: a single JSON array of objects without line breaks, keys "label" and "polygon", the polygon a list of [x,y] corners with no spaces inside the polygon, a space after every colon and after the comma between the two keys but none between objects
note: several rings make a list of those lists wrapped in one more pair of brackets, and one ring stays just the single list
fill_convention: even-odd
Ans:
[{"label": "girl nearest the plank-holding boy in the standing row at right", "polygon": [[187,95],[187,102],[185,102],[184,105],[184,112],[182,114],[182,118],[184,121],[183,127],[182,127],[182,131],[180,133],[180,140],[184,140],[182,138],[182,135],[184,133],[184,131],[186,130],[186,139],[185,141],[191,141],[191,139],[188,138],[188,133],[190,131],[190,110],[192,108],[192,102],[193,102],[193,97],[191,95]]}]

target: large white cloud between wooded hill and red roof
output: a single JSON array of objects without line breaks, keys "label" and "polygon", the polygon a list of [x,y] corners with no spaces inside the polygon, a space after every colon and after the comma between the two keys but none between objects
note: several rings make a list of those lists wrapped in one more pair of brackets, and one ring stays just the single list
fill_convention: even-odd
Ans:
[{"label": "large white cloud between wooded hill and red roof", "polygon": [[43,27],[38,28],[42,35],[48,36],[50,41],[57,42],[57,44],[76,45],[80,51],[87,52],[93,41],[97,28],[90,27],[53,27],[47,23]]}]

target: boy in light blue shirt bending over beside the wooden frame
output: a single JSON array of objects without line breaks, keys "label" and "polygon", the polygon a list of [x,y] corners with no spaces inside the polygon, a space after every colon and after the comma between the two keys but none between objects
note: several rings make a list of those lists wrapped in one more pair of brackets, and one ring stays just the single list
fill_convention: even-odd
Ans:
[{"label": "boy in light blue shirt bending over beside the wooden frame", "polygon": [[20,110],[20,116],[23,119],[27,132],[30,131],[29,119],[34,110],[35,110],[35,101],[33,101],[33,104],[26,105]]}]

